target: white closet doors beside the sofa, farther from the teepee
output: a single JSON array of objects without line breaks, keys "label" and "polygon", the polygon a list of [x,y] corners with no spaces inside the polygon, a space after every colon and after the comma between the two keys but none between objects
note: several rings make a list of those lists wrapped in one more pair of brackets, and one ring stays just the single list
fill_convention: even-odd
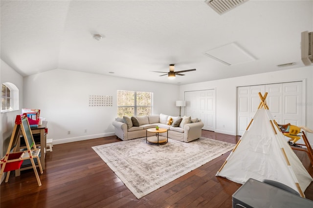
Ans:
[{"label": "white closet doors beside the sofa, farther from the teepee", "polygon": [[201,119],[204,124],[202,129],[215,131],[215,89],[185,92],[185,101],[185,115]]}]

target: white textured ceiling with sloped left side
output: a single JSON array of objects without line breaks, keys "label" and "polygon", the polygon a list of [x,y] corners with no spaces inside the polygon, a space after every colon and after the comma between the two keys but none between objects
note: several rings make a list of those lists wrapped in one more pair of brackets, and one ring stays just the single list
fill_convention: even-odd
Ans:
[{"label": "white textured ceiling with sloped left side", "polygon": [[[301,32],[313,31],[312,0],[249,0],[223,15],[204,0],[1,0],[0,16],[1,59],[23,76],[59,68],[173,84],[303,67]],[[256,60],[204,55],[230,43]],[[151,72],[171,63],[197,70]]]}]

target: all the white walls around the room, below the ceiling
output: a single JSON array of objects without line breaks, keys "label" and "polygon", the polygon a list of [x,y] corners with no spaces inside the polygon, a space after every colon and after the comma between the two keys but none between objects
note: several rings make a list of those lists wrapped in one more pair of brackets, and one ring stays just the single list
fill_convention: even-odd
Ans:
[{"label": "all the white walls around the room, below the ceiling", "polygon": [[[216,89],[216,132],[236,135],[237,86],[294,81],[306,83],[306,125],[313,128],[313,66],[177,86],[62,69],[24,77],[22,81],[18,73],[1,61],[1,83],[18,86],[20,108],[41,109],[41,117],[48,121],[47,138],[53,138],[54,144],[114,135],[116,90],[154,92],[154,114],[175,116],[179,114],[175,101],[183,99],[185,91]],[[113,96],[113,106],[89,107],[89,95]],[[182,108],[182,115],[183,111]],[[12,133],[15,116],[20,113],[1,114],[1,153],[2,143]],[[313,135],[308,134],[308,138],[313,144]]]}]

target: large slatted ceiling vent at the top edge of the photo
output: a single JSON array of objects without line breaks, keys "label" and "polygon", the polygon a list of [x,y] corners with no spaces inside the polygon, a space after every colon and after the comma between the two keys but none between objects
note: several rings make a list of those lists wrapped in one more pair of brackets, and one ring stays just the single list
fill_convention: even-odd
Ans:
[{"label": "large slatted ceiling vent at the top edge of the photo", "polygon": [[220,15],[245,3],[247,0],[205,0],[204,2]]}]

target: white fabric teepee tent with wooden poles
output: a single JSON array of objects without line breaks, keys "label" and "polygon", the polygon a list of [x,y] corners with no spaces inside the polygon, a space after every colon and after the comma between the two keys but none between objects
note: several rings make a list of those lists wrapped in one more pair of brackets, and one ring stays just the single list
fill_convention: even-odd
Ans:
[{"label": "white fabric teepee tent with wooden poles", "polygon": [[[244,184],[249,178],[269,179],[283,183],[304,197],[313,181],[295,155],[276,122],[272,120],[264,97],[245,133],[216,176]],[[264,107],[264,108],[263,108]]]}]

